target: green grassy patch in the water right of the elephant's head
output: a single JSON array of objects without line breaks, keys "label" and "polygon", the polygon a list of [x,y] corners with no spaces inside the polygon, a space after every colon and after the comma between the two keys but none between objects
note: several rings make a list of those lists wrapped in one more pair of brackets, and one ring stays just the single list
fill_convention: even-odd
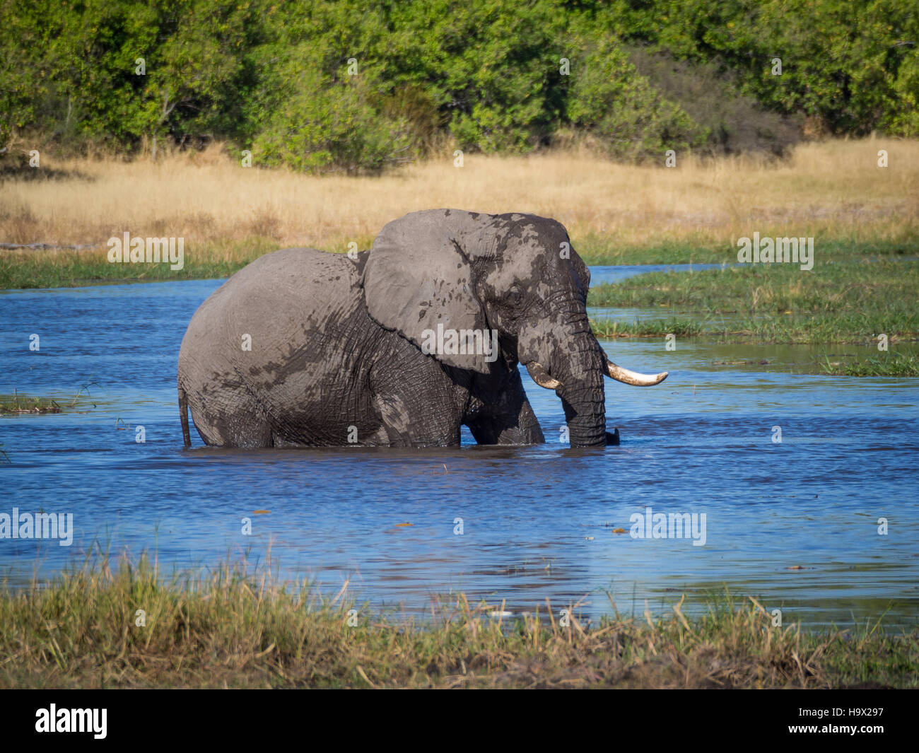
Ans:
[{"label": "green grassy patch in the water right of the elephant's head", "polygon": [[[653,336],[684,332],[731,342],[862,343],[919,337],[919,262],[881,258],[652,272],[600,285],[588,305],[661,309],[662,320],[630,327]],[[609,331],[612,324],[604,325]]]}]

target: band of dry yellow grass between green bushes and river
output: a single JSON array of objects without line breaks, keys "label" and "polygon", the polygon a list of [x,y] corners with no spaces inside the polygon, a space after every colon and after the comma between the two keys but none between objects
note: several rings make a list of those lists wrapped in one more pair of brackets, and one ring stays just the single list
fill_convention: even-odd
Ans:
[{"label": "band of dry yellow grass between green bushes and river", "polygon": [[[877,165],[879,149],[890,166]],[[663,158],[662,158],[663,163]],[[619,165],[587,152],[467,154],[381,177],[312,177],[244,168],[220,147],[148,160],[54,160],[51,180],[0,183],[0,242],[85,244],[125,231],[196,241],[261,235],[279,245],[369,245],[406,212],[437,207],[528,211],[563,222],[575,241],[733,244],[764,235],[853,240],[912,236],[919,142],[867,139],[800,145],[789,160],[749,157],[676,168]]]}]

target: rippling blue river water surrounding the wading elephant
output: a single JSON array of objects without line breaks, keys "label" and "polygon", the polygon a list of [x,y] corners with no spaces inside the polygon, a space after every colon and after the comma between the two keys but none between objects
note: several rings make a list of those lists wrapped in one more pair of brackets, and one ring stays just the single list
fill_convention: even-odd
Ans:
[{"label": "rippling blue river water surrounding the wading elephant", "polygon": [[[595,283],[618,274],[600,271]],[[671,372],[654,388],[607,382],[618,448],[562,444],[562,405],[524,371],[544,446],[480,448],[464,432],[458,450],[217,451],[195,436],[183,451],[179,343],[220,284],[0,293],[0,392],[72,398],[97,384],[86,412],[0,418],[12,461],[0,464],[0,512],[73,512],[76,527],[69,548],[0,540],[11,583],[93,542],[155,549],[177,568],[265,561],[270,548],[285,577],[330,595],[348,581],[360,602],[417,615],[459,590],[515,613],[581,600],[596,619],[610,599],[641,613],[646,599],[664,610],[727,587],[785,622],[864,623],[885,610],[887,624],[917,622],[917,380],[778,371],[811,359],[808,348],[616,340],[605,346],[616,362]],[[28,350],[33,333],[40,352]],[[705,546],[631,538],[631,516],[649,507],[705,513]]]}]

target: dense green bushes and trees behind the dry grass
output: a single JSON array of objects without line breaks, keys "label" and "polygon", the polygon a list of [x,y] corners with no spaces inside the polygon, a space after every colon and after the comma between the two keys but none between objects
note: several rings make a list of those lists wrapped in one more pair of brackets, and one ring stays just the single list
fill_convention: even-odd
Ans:
[{"label": "dense green bushes and trees behind the dry grass", "polygon": [[586,137],[638,158],[780,152],[801,126],[919,134],[919,13],[902,0],[0,7],[0,148],[221,139],[256,165],[357,171],[448,142],[527,152]]}]

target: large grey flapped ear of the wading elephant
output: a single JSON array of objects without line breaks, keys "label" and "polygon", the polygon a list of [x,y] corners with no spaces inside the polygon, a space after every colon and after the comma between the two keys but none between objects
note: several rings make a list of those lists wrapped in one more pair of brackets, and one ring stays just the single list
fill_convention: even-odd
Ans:
[{"label": "large grey flapped ear of the wading elephant", "polygon": [[[475,237],[476,219],[469,212],[435,210],[390,222],[370,249],[363,287],[369,314],[380,325],[449,366],[488,373],[494,357],[484,348],[494,340],[484,331],[485,313],[462,245]],[[478,337],[464,340],[471,331]]]}]

